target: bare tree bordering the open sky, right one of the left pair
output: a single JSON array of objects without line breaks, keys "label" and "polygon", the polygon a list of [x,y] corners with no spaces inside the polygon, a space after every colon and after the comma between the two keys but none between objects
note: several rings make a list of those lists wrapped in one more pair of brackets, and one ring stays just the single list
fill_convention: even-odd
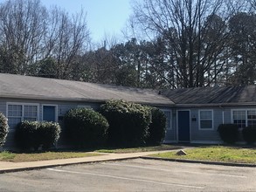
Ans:
[{"label": "bare tree bordering the open sky, right one of the left pair", "polygon": [[85,51],[86,42],[90,40],[86,15],[81,10],[69,17],[65,10],[54,7],[49,12],[47,29],[45,57],[51,56],[57,60],[59,79],[70,79],[73,61]]}]

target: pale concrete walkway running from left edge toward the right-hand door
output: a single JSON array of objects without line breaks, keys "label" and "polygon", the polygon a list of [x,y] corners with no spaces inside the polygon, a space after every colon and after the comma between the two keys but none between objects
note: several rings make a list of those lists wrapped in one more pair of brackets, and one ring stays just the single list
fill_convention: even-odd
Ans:
[{"label": "pale concrete walkway running from left edge toward the right-hand door", "polygon": [[[82,158],[71,158],[71,159],[60,159],[60,160],[48,160],[48,161],[25,161],[25,162],[9,162],[0,161],[0,174],[8,172],[16,172],[23,170],[30,170],[35,168],[52,168],[56,166],[65,166],[80,163],[93,163],[99,161],[119,161],[135,159],[149,154],[158,154],[169,152],[168,151],[151,151],[151,152],[141,152],[141,153],[129,153],[129,154],[105,154],[82,157]],[[173,150],[172,150],[173,151]]]}]

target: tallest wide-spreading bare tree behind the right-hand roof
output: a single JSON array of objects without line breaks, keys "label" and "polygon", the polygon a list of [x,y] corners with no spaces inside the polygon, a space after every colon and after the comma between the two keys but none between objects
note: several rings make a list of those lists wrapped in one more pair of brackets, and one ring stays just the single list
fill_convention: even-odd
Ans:
[{"label": "tallest wide-spreading bare tree behind the right-hand roof", "polygon": [[[149,37],[165,41],[164,59],[170,60],[163,63],[175,76],[169,79],[172,87],[216,82],[223,71],[228,40],[225,20],[229,14],[224,0],[144,0],[135,3],[134,14],[133,24],[141,26]],[[165,76],[170,76],[168,71]],[[175,82],[171,82],[173,79]]]}]

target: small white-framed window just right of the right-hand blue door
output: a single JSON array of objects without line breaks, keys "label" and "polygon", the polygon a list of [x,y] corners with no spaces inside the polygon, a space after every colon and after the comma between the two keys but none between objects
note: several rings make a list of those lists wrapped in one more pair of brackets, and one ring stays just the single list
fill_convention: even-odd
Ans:
[{"label": "small white-framed window just right of the right-hand blue door", "polygon": [[201,110],[199,111],[199,129],[212,129],[212,110]]}]

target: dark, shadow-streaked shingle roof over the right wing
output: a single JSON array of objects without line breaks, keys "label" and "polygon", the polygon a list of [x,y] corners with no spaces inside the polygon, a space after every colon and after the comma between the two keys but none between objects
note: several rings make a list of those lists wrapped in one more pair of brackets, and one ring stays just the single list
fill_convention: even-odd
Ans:
[{"label": "dark, shadow-streaked shingle roof over the right wing", "polygon": [[195,87],[165,90],[162,93],[176,105],[256,104],[256,86]]}]

